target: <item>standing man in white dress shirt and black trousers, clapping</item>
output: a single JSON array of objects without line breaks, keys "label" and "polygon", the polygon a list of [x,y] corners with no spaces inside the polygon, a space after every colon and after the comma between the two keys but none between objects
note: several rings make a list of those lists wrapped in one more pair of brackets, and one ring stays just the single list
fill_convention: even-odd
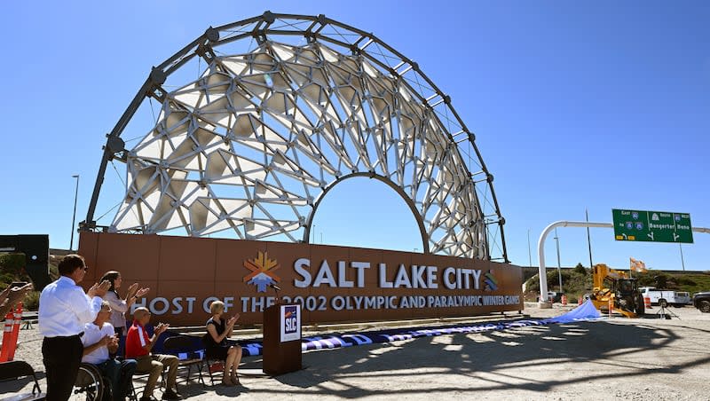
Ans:
[{"label": "standing man in white dress shirt and black trousers, clapping", "polygon": [[111,285],[108,281],[97,283],[84,293],[77,284],[88,269],[82,256],[64,256],[59,262],[61,277],[44,287],[39,297],[38,326],[44,336],[47,401],[65,401],[71,395],[82,363],[83,327],[99,314],[101,297]]}]

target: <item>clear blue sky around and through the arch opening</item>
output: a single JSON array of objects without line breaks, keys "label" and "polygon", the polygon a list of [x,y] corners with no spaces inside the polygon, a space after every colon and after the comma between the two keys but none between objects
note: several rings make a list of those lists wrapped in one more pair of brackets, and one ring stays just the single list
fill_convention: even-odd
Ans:
[{"label": "clear blue sky around and through the arch opening", "polygon": [[[513,263],[528,264],[528,232],[536,265],[540,232],[585,209],[610,223],[611,208],[687,212],[710,227],[708,2],[126,1],[4,5],[0,232],[49,233],[52,248],[68,248],[71,176],[81,175],[78,222],[104,135],[150,67],[210,25],[265,10],[324,13],[418,62],[477,135]],[[122,189],[104,191],[117,194],[104,204],[120,201]],[[397,196],[374,180],[335,187],[315,216],[316,242],[421,251]],[[564,266],[588,264],[584,229],[558,235]],[[694,236],[686,269],[710,270],[710,234]],[[675,244],[617,242],[610,229],[591,237],[595,263],[627,268],[633,256],[681,269]]]}]

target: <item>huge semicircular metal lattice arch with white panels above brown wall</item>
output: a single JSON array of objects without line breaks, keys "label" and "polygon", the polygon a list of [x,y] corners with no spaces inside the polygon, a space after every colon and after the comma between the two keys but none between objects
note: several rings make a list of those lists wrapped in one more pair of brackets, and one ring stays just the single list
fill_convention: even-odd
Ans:
[{"label": "huge semicircular metal lattice arch with white panels above brown wall", "polygon": [[[198,78],[165,90],[193,59],[207,64]],[[161,114],[125,149],[122,131],[146,98]],[[508,262],[493,176],[450,99],[375,35],[323,15],[210,27],[153,68],[107,138],[84,230],[96,228],[114,159],[128,181],[110,232],[299,241],[300,231],[308,242],[323,196],[366,176],[406,201],[425,252]]]}]

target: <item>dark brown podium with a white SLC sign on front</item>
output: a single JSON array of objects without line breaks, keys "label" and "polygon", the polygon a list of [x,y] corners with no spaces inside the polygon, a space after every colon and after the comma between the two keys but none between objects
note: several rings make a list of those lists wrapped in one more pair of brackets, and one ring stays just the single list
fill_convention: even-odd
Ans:
[{"label": "dark brown podium with a white SLC sign on front", "polygon": [[276,303],[264,310],[264,373],[301,370],[301,305]]}]

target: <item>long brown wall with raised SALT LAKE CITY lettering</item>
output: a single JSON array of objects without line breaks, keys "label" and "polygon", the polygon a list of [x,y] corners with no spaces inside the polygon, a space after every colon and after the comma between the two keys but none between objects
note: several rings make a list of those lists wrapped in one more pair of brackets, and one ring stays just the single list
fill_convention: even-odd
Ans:
[{"label": "long brown wall with raised SALT LAKE CITY lettering", "polygon": [[[209,303],[261,323],[275,303],[300,303],[304,324],[522,311],[522,270],[510,264],[382,249],[81,232],[89,287],[120,271],[150,292],[154,322],[203,325]],[[123,288],[124,290],[126,288]],[[120,295],[121,291],[119,290]]]}]

